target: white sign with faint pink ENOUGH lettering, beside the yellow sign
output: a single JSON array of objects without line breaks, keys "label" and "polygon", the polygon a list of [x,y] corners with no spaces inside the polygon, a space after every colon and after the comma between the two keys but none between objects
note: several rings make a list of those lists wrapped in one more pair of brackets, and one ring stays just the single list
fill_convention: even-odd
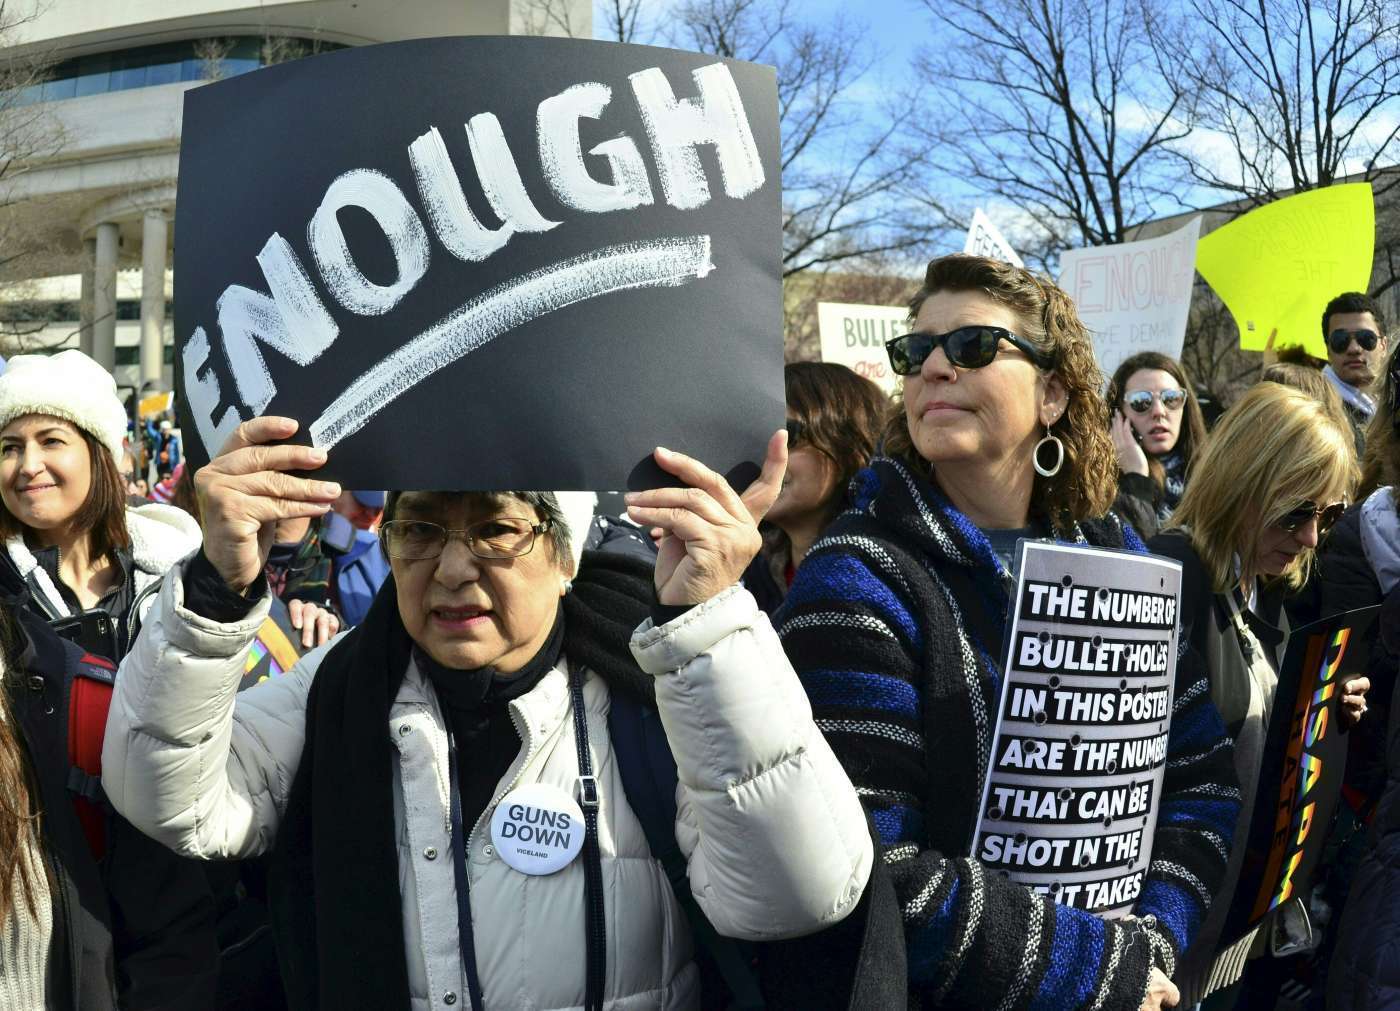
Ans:
[{"label": "white sign with faint pink ENOUGH lettering, beside the yellow sign", "polygon": [[1158,238],[1060,256],[1060,287],[1093,336],[1105,379],[1138,351],[1182,357],[1200,232],[1201,218],[1194,217]]}]

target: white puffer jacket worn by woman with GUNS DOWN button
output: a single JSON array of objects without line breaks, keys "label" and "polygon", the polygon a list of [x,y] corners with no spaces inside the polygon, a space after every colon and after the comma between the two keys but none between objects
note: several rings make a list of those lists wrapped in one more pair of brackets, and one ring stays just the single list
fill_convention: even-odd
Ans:
[{"label": "white puffer jacket worn by woman with GUNS DOWN button", "polygon": [[[242,655],[266,609],[220,625],[182,606],[171,578],[116,681],[102,783],[143,832],[179,853],[246,857],[273,843],[305,739],[322,647],[288,674],[238,693]],[[767,618],[732,587],[673,622],[644,623],[631,650],[657,676],[676,758],[676,839],[696,900],[721,934],[794,937],[844,917],[871,870],[860,801],[812,721]],[[689,927],[627,805],[608,737],[606,683],[584,683],[602,798],[608,1007],[692,1008]],[[476,961],[489,1008],[584,1003],[582,863],[547,877],[512,871],[490,844],[511,788],[574,794],[578,758],[567,675],[511,702],[519,756],[468,839]],[[384,731],[393,777],[405,951],[414,1011],[466,1005],[448,819],[448,739],[431,683],[412,665]]]}]

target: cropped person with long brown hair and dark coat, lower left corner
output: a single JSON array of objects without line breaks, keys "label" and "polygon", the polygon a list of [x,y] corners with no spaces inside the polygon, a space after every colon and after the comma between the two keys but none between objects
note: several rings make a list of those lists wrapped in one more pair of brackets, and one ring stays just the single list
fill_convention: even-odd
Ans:
[{"label": "cropped person with long brown hair and dark coat, lower left corner", "polygon": [[203,1011],[218,947],[202,870],[116,815],[80,821],[70,699],[112,669],[24,591],[0,559],[0,1007]]}]

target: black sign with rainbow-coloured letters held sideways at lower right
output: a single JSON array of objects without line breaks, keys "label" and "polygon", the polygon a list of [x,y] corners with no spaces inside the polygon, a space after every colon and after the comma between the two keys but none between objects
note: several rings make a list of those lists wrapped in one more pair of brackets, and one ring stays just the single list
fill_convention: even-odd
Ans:
[{"label": "black sign with rainbow-coloured letters held sideways at lower right", "polygon": [[1298,629],[1278,672],[1264,759],[1235,900],[1222,937],[1233,941],[1270,912],[1306,896],[1341,797],[1347,738],[1341,686],[1365,674],[1380,608],[1362,608]]}]

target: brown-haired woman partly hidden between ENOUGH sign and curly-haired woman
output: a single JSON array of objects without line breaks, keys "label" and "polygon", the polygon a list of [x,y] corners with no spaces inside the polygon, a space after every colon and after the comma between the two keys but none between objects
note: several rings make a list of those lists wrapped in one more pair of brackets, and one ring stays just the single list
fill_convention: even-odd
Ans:
[{"label": "brown-haired woman partly hidden between ENOUGH sign and curly-haired woman", "polygon": [[846,365],[795,361],[783,370],[788,405],[788,468],[763,524],[763,550],[743,574],[773,613],[808,550],[846,507],[855,472],[875,455],[889,400]]}]

